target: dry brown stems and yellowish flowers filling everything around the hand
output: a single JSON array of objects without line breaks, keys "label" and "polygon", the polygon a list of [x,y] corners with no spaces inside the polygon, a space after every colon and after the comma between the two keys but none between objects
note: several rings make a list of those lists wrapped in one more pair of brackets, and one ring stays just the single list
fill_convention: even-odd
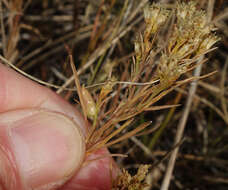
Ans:
[{"label": "dry brown stems and yellowish flowers filling everything around the hand", "polygon": [[81,109],[87,155],[119,156],[113,189],[228,188],[226,0],[1,0],[0,19],[2,62]]}]

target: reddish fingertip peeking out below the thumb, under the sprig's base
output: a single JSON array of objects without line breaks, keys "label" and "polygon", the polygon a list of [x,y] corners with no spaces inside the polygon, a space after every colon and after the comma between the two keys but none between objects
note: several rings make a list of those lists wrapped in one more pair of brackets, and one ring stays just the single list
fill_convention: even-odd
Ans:
[{"label": "reddish fingertip peeking out below the thumb, under the sprig's base", "polygon": [[[119,169],[107,149],[91,154],[61,190],[111,190]],[[91,161],[92,160],[92,161]]]}]

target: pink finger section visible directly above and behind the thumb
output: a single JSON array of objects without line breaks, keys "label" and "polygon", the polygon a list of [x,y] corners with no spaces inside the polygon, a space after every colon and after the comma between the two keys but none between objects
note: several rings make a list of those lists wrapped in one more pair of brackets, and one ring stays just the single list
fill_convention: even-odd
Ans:
[{"label": "pink finger section visible directly above and behind the thumb", "polygon": [[64,113],[83,126],[81,114],[51,90],[0,63],[0,113],[22,108],[47,108]]}]

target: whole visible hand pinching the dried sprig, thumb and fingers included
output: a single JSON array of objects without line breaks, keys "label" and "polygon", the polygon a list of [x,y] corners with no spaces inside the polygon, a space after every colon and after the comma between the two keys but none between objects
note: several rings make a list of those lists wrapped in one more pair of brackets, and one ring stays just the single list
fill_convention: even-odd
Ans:
[{"label": "whole visible hand pinching the dried sprig, thumb and fingers included", "polygon": [[86,127],[61,97],[0,64],[0,190],[110,189],[106,149],[82,167]]}]

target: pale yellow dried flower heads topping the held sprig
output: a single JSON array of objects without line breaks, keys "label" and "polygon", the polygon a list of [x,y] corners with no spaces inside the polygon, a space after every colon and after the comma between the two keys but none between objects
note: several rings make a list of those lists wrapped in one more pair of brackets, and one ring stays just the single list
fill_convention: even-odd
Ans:
[{"label": "pale yellow dried flower heads topping the held sprig", "polygon": [[[171,17],[171,10],[165,10],[154,4],[144,10],[146,30],[144,39],[136,43],[137,60],[148,52],[156,51],[149,40],[154,38],[159,26],[168,22],[168,18],[175,23],[170,27],[169,39],[159,60],[157,74],[160,82],[174,82],[179,76],[187,72],[200,55],[207,51],[219,40],[213,25],[207,22],[204,11],[196,10],[196,3],[178,3],[175,13]],[[155,41],[155,40],[152,40]],[[156,47],[156,46],[155,46]]]}]

